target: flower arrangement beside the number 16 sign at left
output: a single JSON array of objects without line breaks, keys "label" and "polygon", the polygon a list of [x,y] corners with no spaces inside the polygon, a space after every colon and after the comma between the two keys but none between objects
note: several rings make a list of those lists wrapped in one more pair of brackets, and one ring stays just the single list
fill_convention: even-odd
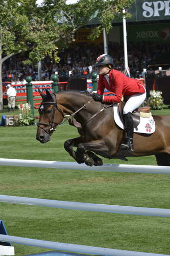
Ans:
[{"label": "flower arrangement beside the number 16 sign at left", "polygon": [[27,126],[34,124],[35,118],[33,118],[31,114],[31,105],[29,103],[19,104],[18,108],[20,110],[20,114],[18,117],[18,123],[20,126]]}]

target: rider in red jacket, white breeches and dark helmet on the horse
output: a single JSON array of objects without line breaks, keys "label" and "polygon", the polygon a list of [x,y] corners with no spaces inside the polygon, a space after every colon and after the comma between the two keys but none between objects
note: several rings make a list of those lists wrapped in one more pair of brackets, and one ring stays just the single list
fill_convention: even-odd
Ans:
[{"label": "rider in red jacket, white breeches and dark helmet on the horse", "polygon": [[[106,103],[118,103],[122,96],[128,96],[128,100],[123,109],[127,139],[121,146],[133,152],[133,119],[131,113],[138,108],[146,98],[145,85],[127,77],[122,72],[113,69],[113,58],[108,54],[100,55],[95,62],[99,70],[98,91],[92,95],[95,101]],[[114,93],[114,96],[103,95],[104,89]]]}]

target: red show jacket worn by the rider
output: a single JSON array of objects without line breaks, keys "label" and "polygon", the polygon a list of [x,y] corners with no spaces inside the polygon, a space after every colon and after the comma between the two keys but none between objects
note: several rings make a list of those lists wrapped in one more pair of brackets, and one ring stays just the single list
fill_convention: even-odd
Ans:
[{"label": "red show jacket worn by the rider", "polygon": [[131,96],[136,93],[144,93],[145,85],[137,79],[127,77],[122,72],[112,69],[109,72],[109,82],[103,75],[99,75],[98,94],[103,95],[104,89],[113,92],[115,96],[103,96],[103,102],[120,102],[122,95]]}]

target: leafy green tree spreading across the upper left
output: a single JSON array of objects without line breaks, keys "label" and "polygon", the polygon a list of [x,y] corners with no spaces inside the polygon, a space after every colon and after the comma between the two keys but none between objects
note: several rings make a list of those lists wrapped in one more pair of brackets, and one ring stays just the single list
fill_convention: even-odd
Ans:
[{"label": "leafy green tree spreading across the upper left", "polygon": [[[38,62],[45,55],[59,60],[58,49],[74,40],[75,31],[95,18],[99,26],[93,28],[91,38],[98,37],[112,27],[113,19],[121,19],[123,8],[134,0],[79,0],[66,5],[65,0],[1,0],[0,3],[0,110],[3,108],[2,65],[13,55],[28,51],[30,62]],[[125,14],[128,17],[128,13]]]}]

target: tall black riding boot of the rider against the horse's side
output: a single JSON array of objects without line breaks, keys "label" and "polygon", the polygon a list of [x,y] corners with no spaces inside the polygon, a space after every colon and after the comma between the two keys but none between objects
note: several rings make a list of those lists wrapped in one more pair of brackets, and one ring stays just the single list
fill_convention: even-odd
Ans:
[{"label": "tall black riding boot of the rider against the horse's side", "polygon": [[122,143],[121,146],[124,148],[124,150],[132,151],[133,152],[133,119],[131,116],[131,112],[128,112],[124,115],[125,120],[125,127],[126,127],[126,133],[127,133],[127,140],[125,143]]}]

